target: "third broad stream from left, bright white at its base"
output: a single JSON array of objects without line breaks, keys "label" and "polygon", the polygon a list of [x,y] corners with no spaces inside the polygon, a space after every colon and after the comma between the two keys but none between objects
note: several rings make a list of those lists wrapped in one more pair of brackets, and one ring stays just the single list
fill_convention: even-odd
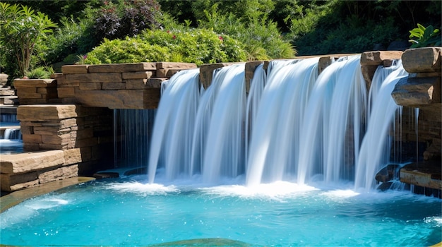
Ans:
[{"label": "third broad stream from left, bright white at its base", "polygon": [[318,58],[283,65],[270,71],[259,102],[247,164],[249,186],[281,180],[285,171],[296,169],[292,150],[299,145],[297,126],[318,76]]}]

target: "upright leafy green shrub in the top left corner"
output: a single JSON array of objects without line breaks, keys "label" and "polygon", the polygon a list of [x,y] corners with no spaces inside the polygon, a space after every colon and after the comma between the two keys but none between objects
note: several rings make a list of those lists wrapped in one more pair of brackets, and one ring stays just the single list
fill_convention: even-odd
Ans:
[{"label": "upright leafy green shrub in the top left corner", "polygon": [[12,54],[20,76],[27,76],[35,54],[35,47],[45,35],[56,28],[47,15],[28,6],[0,3],[0,46],[6,54]]}]

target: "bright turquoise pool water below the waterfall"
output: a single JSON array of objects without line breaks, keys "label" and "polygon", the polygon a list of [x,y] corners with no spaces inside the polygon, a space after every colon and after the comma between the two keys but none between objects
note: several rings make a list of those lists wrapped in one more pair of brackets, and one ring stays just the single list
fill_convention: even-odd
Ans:
[{"label": "bright turquoise pool water below the waterfall", "polygon": [[219,238],[251,246],[431,246],[442,239],[437,198],[235,182],[149,184],[132,176],[71,186],[1,213],[1,244],[147,246]]}]

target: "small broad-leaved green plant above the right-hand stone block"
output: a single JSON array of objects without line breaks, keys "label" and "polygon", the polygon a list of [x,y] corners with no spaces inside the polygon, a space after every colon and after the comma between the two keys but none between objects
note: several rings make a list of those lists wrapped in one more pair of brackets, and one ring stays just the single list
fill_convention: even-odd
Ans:
[{"label": "small broad-leaved green plant above the right-hand stone block", "polygon": [[413,43],[411,48],[441,46],[441,32],[438,29],[434,29],[432,25],[425,28],[417,23],[417,28],[410,30],[409,37],[410,39],[415,38],[414,40],[409,40]]}]

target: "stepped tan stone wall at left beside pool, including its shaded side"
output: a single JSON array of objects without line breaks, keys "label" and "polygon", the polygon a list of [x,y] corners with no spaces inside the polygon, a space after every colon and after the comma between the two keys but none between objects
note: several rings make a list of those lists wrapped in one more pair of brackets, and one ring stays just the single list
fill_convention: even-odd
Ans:
[{"label": "stepped tan stone wall at left beside pool, including its shaded side", "polygon": [[2,157],[1,190],[112,168],[112,116],[111,109],[75,104],[18,107],[25,153]]}]

